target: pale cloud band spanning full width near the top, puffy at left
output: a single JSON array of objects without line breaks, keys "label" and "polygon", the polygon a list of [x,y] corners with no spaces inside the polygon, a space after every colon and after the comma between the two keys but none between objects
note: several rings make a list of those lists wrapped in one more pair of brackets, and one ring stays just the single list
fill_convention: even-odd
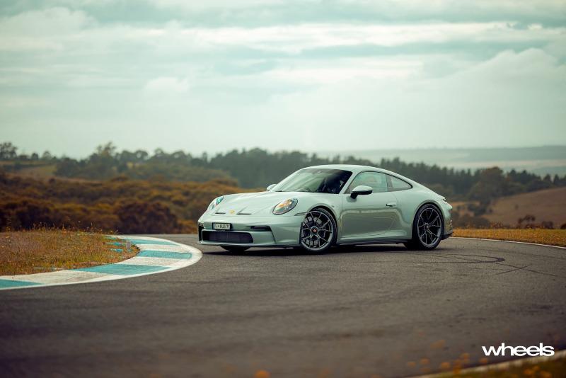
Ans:
[{"label": "pale cloud band spanning full width near the top, puffy at left", "polygon": [[226,47],[296,54],[320,47],[375,45],[392,47],[446,42],[552,42],[565,38],[566,28],[514,28],[513,22],[357,24],[308,23],[258,28],[184,27],[98,24],[81,11],[50,8],[0,20],[0,50],[88,50],[106,52],[117,44],[145,45],[161,52]]}]

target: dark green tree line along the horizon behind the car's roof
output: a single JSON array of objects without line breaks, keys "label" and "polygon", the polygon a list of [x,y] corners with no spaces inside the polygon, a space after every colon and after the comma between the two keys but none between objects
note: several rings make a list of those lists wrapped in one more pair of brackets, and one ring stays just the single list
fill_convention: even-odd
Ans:
[{"label": "dark green tree line along the horizon behind the car's roof", "polygon": [[361,164],[379,166],[410,177],[452,200],[477,200],[488,203],[504,195],[531,192],[566,185],[566,175],[538,176],[527,171],[504,172],[501,169],[455,169],[424,163],[407,163],[398,158],[369,161],[354,156],[326,158],[300,151],[270,152],[265,149],[232,150],[208,156],[193,156],[185,151],[153,154],[138,149],[117,151],[111,144],[100,146],[85,159],[53,156],[44,153],[17,154],[11,143],[0,144],[0,160],[13,165],[4,169],[17,171],[30,164],[54,164],[55,176],[108,180],[117,176],[138,180],[161,181],[234,180],[241,188],[265,188],[304,166],[319,164]]}]

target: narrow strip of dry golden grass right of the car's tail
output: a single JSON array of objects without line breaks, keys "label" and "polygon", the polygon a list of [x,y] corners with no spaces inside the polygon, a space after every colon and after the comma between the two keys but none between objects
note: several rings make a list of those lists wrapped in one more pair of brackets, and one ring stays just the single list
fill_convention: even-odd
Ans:
[{"label": "narrow strip of dry golden grass right of the car's tail", "polygon": [[455,229],[454,236],[566,247],[566,229]]}]

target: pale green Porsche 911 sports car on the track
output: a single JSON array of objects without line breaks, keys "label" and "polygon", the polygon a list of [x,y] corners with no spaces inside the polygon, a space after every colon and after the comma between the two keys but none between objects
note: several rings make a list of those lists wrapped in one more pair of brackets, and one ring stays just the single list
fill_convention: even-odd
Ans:
[{"label": "pale green Porsche 911 sports car on the track", "polygon": [[436,248],[452,234],[451,205],[432,190],[371,166],[300,169],[265,192],[215,198],[198,220],[200,244],[228,251],[403,243]]}]

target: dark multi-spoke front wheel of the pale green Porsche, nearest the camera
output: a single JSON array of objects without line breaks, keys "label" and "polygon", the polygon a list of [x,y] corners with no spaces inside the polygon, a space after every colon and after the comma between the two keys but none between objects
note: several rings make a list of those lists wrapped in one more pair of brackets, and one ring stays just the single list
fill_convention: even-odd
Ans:
[{"label": "dark multi-spoke front wheel of the pale green Porsche, nearest the camera", "polygon": [[313,209],[301,223],[301,247],[311,253],[326,251],[336,241],[336,222],[330,212]]}]

